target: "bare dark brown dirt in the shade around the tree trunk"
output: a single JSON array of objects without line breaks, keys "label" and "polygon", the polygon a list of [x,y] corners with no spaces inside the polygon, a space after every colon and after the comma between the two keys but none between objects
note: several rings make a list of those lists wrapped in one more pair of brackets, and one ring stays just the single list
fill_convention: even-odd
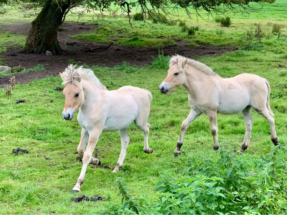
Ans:
[{"label": "bare dark brown dirt in the shade around the tree trunk", "polygon": [[[16,83],[25,84],[34,79],[45,78],[47,75],[59,75],[59,72],[65,70],[69,60],[81,62],[89,66],[107,66],[113,67],[121,65],[123,61],[131,65],[150,64],[153,61],[152,56],[158,56],[158,49],[155,48],[134,48],[120,45],[112,45],[108,49],[109,44],[100,44],[97,42],[87,42],[73,39],[70,36],[79,33],[89,32],[99,26],[98,24],[85,24],[66,22],[60,27],[58,32],[58,40],[60,47],[65,51],[62,56],[46,56],[45,54],[28,54],[19,53],[20,47],[7,47],[7,52],[0,53],[8,66],[14,67],[21,65],[28,69],[33,68],[37,64],[43,64],[45,71],[30,72],[19,74],[16,76]],[[11,31],[27,35],[30,29],[30,23],[10,26],[0,26],[0,32]],[[216,47],[212,45],[201,45],[198,48],[188,47],[185,41],[175,40],[177,45],[162,48],[164,55],[172,56],[179,54],[185,57],[193,58],[194,56],[202,56],[207,54],[222,54],[225,52],[236,50],[236,47]],[[7,45],[9,46],[9,45]],[[94,51],[91,51],[94,50]],[[10,77],[0,79],[0,87],[9,84]]]}]

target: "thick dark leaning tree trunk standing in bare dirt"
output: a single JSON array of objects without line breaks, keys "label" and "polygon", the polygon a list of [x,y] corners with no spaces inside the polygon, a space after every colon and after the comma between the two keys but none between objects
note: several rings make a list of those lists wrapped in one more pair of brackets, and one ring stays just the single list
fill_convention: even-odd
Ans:
[{"label": "thick dark leaning tree trunk standing in bare dirt", "polygon": [[24,52],[45,53],[47,50],[54,55],[63,54],[57,39],[58,29],[61,24],[68,4],[54,4],[52,0],[46,1],[39,15],[31,23],[31,28],[26,38]]}]

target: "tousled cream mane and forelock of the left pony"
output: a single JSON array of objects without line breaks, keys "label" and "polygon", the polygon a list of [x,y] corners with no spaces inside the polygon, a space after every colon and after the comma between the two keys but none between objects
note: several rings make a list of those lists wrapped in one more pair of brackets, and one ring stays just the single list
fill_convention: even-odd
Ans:
[{"label": "tousled cream mane and forelock of the left pony", "polygon": [[79,68],[75,68],[76,65],[69,64],[68,67],[65,68],[65,72],[63,72],[63,82],[62,85],[66,85],[69,82],[73,83],[74,85],[77,85],[79,87],[82,87],[82,79],[88,80],[93,82],[97,87],[104,90],[106,87],[100,82],[100,80],[97,78],[97,76],[94,75],[94,72],[90,69],[84,69],[83,66],[80,66]]}]

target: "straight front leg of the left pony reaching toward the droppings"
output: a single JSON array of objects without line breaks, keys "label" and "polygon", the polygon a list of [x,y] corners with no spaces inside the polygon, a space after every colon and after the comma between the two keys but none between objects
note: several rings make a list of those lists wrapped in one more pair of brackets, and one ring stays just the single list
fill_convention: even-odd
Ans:
[{"label": "straight front leg of the left pony reaching toward the droppings", "polygon": [[86,174],[86,169],[89,163],[92,162],[92,164],[98,164],[100,162],[99,159],[96,158],[92,158],[92,153],[94,151],[94,148],[97,145],[99,136],[101,134],[101,130],[99,129],[93,129],[90,132],[90,136],[89,136],[89,140],[88,140],[88,145],[86,148],[86,151],[84,153],[83,156],[83,167],[80,173],[80,176],[78,178],[77,184],[74,186],[72,193],[77,193],[78,191],[80,191],[81,189],[81,185],[84,183],[84,178],[85,178],[85,174]]}]

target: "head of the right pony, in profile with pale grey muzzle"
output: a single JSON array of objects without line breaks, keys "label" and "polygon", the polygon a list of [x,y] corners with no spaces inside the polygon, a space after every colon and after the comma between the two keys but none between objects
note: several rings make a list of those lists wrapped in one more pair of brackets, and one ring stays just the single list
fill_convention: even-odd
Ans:
[{"label": "head of the right pony, in profile with pale grey muzzle", "polygon": [[167,93],[170,90],[175,89],[176,87],[182,85],[186,78],[184,67],[187,63],[187,58],[175,55],[170,59],[169,70],[167,71],[167,77],[163,80],[159,86],[161,93]]}]

